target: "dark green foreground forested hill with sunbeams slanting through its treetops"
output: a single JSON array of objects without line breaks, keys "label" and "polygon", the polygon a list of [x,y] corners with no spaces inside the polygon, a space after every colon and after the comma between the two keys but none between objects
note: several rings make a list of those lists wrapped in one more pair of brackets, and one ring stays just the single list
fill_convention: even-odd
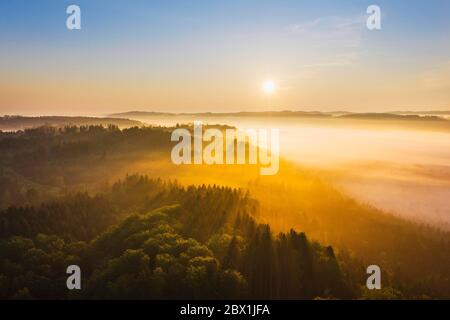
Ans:
[{"label": "dark green foreground forested hill with sunbeams slanting through its treetops", "polygon": [[[239,190],[129,176],[0,213],[0,298],[351,298],[331,247],[273,235]],[[83,270],[83,290],[65,268]]]}]

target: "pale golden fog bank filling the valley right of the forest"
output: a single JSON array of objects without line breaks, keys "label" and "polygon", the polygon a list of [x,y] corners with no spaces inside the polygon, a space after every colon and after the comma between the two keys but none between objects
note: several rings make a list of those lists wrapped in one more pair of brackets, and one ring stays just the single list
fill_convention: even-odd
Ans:
[{"label": "pale golden fog bank filling the valley right of the forest", "polygon": [[429,118],[433,115],[400,120],[386,115],[377,119],[376,114],[360,119],[335,119],[314,113],[300,117],[279,113],[123,115],[162,126],[202,121],[241,130],[279,129],[282,158],[319,171],[361,202],[450,228],[450,125],[446,120]]}]

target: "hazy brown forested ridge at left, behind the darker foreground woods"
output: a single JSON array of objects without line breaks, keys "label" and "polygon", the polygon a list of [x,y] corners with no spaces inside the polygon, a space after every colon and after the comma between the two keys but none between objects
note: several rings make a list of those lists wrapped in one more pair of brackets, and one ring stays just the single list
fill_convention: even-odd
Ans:
[{"label": "hazy brown forested ridge at left, behind the darker foreground woods", "polygon": [[104,126],[0,132],[0,209],[35,204],[67,190],[114,179],[113,163],[152,152],[170,155],[170,131]]}]

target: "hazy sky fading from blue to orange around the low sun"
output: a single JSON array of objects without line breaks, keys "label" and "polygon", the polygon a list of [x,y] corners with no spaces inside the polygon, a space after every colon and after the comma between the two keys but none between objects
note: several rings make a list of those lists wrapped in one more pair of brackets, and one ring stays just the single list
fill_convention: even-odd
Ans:
[{"label": "hazy sky fading from blue to orange around the low sun", "polygon": [[0,2],[0,114],[262,109],[450,109],[450,1]]}]

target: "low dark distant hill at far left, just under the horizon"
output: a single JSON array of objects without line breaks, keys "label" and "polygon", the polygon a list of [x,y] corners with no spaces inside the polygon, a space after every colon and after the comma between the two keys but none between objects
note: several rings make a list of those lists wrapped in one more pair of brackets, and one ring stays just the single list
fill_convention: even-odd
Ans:
[{"label": "low dark distant hill at far left, just under the horizon", "polygon": [[142,122],[137,120],[120,118],[96,118],[96,117],[23,117],[23,116],[3,116],[0,117],[0,130],[14,131],[41,126],[63,127],[67,125],[90,126],[90,125],[116,125],[120,128],[141,126]]}]

